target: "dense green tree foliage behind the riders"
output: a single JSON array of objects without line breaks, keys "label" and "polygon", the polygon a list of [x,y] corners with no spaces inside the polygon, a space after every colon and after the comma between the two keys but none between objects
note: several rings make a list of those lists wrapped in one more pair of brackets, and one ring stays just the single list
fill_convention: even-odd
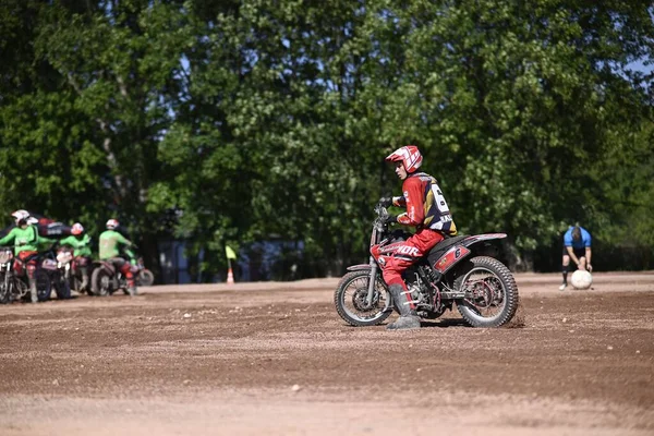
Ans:
[{"label": "dense green tree foliage behind the riders", "polygon": [[413,143],[458,227],[508,232],[516,267],[553,267],[574,221],[651,254],[652,16],[617,0],[11,0],[0,209],[117,216],[153,259],[181,238],[206,272],[225,244],[303,241],[304,275],[340,274],[399,190],[384,157]]}]

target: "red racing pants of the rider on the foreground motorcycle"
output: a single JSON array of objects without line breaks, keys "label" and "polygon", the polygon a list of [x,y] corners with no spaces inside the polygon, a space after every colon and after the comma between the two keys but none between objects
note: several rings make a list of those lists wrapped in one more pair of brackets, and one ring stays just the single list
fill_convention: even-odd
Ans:
[{"label": "red racing pants of the rider on the foreground motorcycle", "polygon": [[[383,263],[382,276],[386,284],[389,287],[400,284],[404,290],[403,295],[407,295],[407,284],[402,280],[402,271],[426,255],[434,245],[444,239],[439,231],[421,229],[407,241],[397,243],[397,249],[389,256],[385,256]],[[412,299],[407,296],[407,301],[411,310],[415,308]]]}]

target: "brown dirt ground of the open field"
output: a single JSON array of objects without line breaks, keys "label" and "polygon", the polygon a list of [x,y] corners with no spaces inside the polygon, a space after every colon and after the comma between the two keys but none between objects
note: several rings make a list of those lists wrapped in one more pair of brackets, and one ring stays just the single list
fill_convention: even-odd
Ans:
[{"label": "brown dirt ground of the open field", "polygon": [[349,327],[337,279],[0,306],[0,435],[654,435],[654,272],[559,280],[499,329]]}]

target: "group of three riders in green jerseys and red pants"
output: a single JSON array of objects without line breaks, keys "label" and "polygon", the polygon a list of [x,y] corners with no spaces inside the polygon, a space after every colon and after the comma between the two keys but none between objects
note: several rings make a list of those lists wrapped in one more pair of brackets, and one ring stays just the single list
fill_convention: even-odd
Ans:
[{"label": "group of three riders in green jerseys and red pants", "polygon": [[[0,246],[13,243],[14,246],[14,269],[20,274],[27,274],[29,282],[29,294],[33,303],[38,301],[37,284],[34,271],[40,252],[44,247],[50,247],[55,244],[59,246],[70,246],[73,250],[74,261],[80,265],[82,284],[80,291],[89,291],[89,266],[92,265],[92,239],[84,231],[80,222],[75,222],[71,228],[71,234],[61,240],[53,240],[39,235],[37,222],[38,219],[32,217],[27,210],[19,209],[11,214],[15,220],[16,227],[0,239]],[[107,230],[99,237],[99,259],[110,262],[126,278],[128,290],[131,295],[136,293],[136,284],[132,272],[132,264],[121,257],[124,252],[131,259],[135,258],[130,250],[132,242],[119,233],[116,229],[119,227],[117,219],[109,219],[106,223]],[[26,268],[23,268],[23,265]]]}]

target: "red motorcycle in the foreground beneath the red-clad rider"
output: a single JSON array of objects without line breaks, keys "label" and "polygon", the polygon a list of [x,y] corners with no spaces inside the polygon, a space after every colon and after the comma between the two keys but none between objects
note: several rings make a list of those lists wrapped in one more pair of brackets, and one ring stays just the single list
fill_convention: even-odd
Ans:
[{"label": "red motorcycle in the foreground beneath the red-clad rider", "polygon": [[[395,253],[410,233],[389,231],[388,211],[375,207],[371,259],[368,264],[348,267],[334,294],[336,311],[356,327],[383,323],[393,310],[388,286],[380,271],[384,256]],[[511,320],[518,310],[518,286],[511,271],[496,256],[498,250],[488,241],[506,238],[505,233],[446,238],[420,262],[404,270],[402,278],[420,317],[435,319],[455,304],[463,319],[473,327],[499,327]]]}]

